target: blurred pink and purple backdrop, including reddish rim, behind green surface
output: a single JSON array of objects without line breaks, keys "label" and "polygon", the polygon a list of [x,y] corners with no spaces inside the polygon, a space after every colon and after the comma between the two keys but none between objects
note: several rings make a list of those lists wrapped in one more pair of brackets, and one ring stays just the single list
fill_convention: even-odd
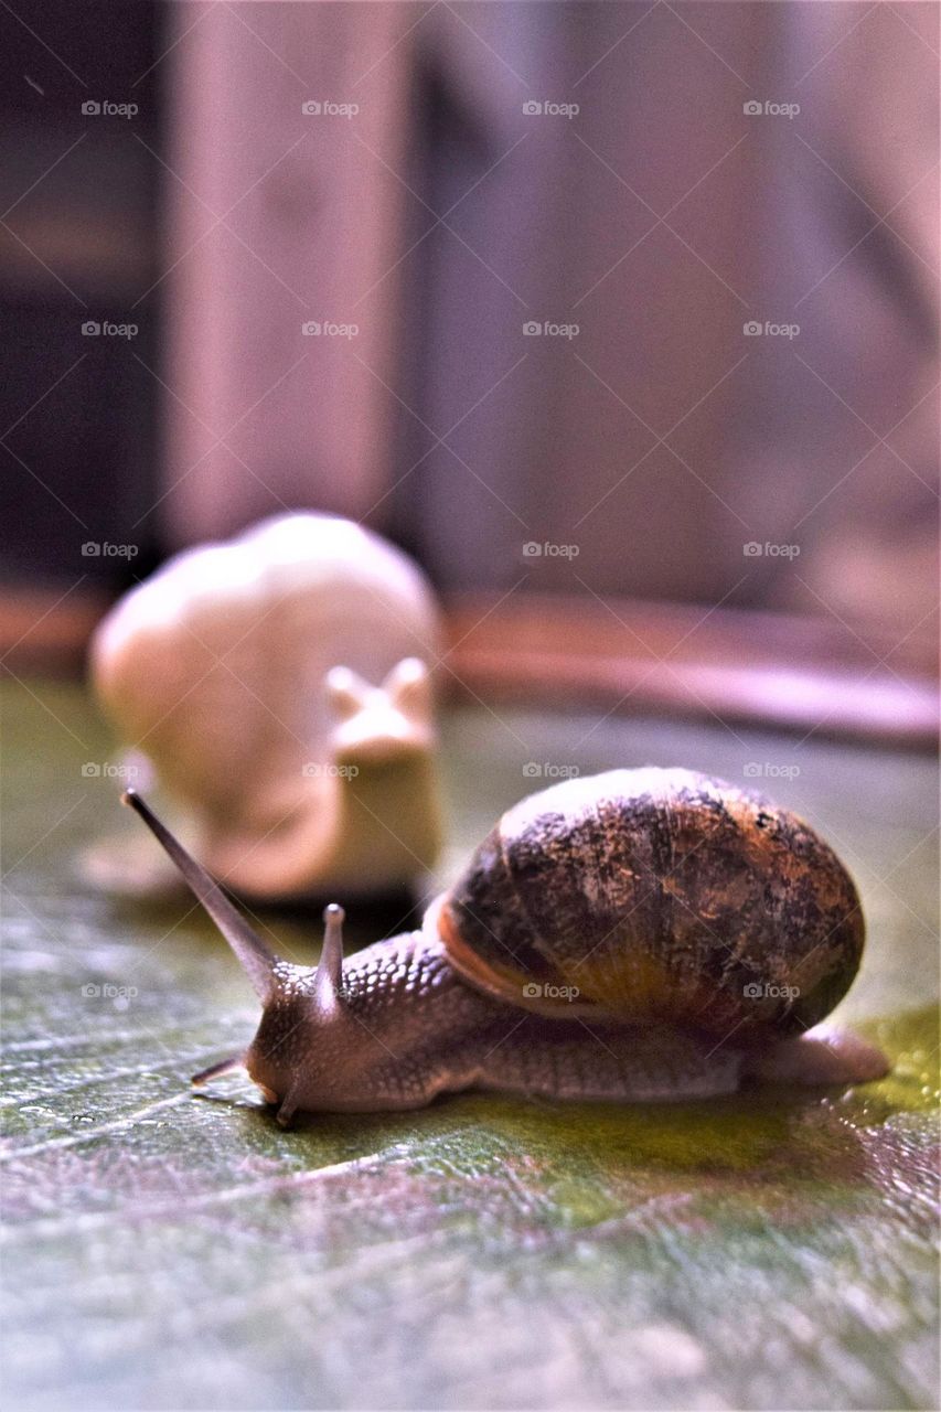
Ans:
[{"label": "blurred pink and purple backdrop, including reddish rim, behind green surface", "polygon": [[458,690],[931,733],[934,4],[0,23],[14,666],[304,505]]}]

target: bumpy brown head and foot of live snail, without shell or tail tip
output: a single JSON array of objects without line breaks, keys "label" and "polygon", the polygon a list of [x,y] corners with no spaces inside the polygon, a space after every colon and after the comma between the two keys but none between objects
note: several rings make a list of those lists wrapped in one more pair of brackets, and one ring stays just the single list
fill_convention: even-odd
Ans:
[{"label": "bumpy brown head and foot of live snail, without shell or tail tip", "polygon": [[[339,1012],[319,1017],[311,973],[283,967],[244,1065],[305,1111],[417,1108],[492,1089],[547,1099],[667,1100],[732,1093],[742,1055],[670,1025],[584,1024],[516,1010],[465,984],[444,946],[396,936],[343,967]],[[711,1052],[712,1051],[712,1052]]]}]

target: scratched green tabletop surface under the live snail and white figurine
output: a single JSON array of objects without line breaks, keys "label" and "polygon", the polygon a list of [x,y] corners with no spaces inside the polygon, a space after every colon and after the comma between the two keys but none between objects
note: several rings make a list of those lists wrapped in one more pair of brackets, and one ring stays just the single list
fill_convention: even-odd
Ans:
[{"label": "scratched green tabletop surface under the live snail and white figurine", "polygon": [[[541,782],[527,762],[759,767],[856,875],[870,940],[839,1014],[893,1073],[677,1106],[465,1094],[281,1132],[239,1076],[188,1089],[257,1015],[212,925],[82,880],[81,850],[136,822],[82,772],[112,750],[82,689],[7,685],[3,727],[7,1406],[938,1405],[931,761],[449,714],[445,881]],[[315,921],[266,921],[315,957]],[[109,986],[133,994],[88,994]]]}]

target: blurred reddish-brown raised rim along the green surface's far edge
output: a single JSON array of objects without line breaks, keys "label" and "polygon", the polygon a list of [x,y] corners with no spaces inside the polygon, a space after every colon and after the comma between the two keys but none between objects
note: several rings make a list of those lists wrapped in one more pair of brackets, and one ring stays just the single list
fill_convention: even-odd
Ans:
[{"label": "blurred reddish-brown raised rim along the green surface's far edge", "polygon": [[[1,592],[0,662],[17,675],[79,675],[107,606],[99,592]],[[838,644],[818,620],[740,610],[704,620],[692,606],[517,596],[500,606],[458,600],[445,623],[441,685],[458,699],[653,712],[920,750],[938,740],[937,678],[853,648],[851,634]]]}]

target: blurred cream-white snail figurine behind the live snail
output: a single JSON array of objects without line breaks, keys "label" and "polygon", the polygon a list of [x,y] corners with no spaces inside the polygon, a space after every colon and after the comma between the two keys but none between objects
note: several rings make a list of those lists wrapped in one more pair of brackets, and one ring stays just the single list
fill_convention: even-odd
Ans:
[{"label": "blurred cream-white snail figurine behind the live snail", "polygon": [[292,514],[171,559],[92,642],[106,714],[257,898],[380,892],[441,839],[418,568],[348,520]]}]

